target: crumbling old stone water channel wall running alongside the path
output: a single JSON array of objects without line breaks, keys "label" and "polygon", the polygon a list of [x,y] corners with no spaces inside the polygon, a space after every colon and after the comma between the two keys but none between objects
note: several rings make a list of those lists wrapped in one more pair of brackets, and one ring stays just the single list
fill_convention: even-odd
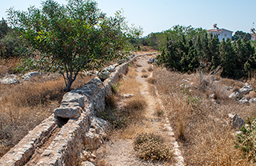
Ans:
[{"label": "crumbling old stone water channel wall running alongside the path", "polygon": [[135,61],[137,57],[152,54],[155,53],[134,56],[130,61],[118,65],[116,71],[105,81],[94,78],[86,85],[66,93],[60,107],[2,156],[0,165],[26,164],[35,149],[48,139],[55,128],[58,128],[56,120],[62,118],[69,118],[69,121],[62,126],[36,165],[76,164],[82,150],[102,144],[102,136],[108,132],[108,122],[95,117],[95,113],[104,111],[105,96],[110,93],[111,85],[118,82],[119,74],[126,74],[129,63]]}]

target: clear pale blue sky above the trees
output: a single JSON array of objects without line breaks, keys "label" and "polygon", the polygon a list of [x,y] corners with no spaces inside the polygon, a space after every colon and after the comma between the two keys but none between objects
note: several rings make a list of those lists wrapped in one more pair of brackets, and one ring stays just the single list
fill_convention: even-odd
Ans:
[{"label": "clear pale blue sky above the trees", "polygon": [[[66,4],[66,0],[57,0]],[[0,17],[6,18],[6,9],[26,10],[41,6],[41,0],[0,0]],[[144,34],[161,32],[172,26],[219,28],[250,32],[256,23],[255,0],[98,0],[98,8],[107,15],[124,10],[127,21],[143,28]],[[256,26],[255,26],[256,28]]]}]

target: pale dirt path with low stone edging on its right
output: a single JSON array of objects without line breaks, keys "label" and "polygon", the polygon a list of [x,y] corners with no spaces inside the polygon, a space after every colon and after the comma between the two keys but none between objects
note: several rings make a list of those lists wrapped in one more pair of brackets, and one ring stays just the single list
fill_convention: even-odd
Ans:
[{"label": "pale dirt path with low stone edging on its right", "polygon": [[[150,67],[150,64],[147,63],[149,59],[149,56],[138,57],[137,59],[137,63],[142,66],[137,68],[138,76],[136,76],[136,80],[142,84],[140,93],[142,94],[142,97],[145,98],[147,103],[145,118],[142,120],[142,126],[140,127],[143,128],[144,132],[154,132],[158,135],[164,136],[170,145],[174,147],[174,160],[169,162],[152,162],[141,160],[134,151],[133,139],[114,138],[108,141],[97,151],[97,156],[104,154],[103,159],[106,165],[184,165],[181,152],[178,150],[178,144],[174,139],[174,133],[170,128],[168,119],[165,117],[165,115],[158,117],[154,111],[156,108],[155,105],[161,103],[161,101],[159,101],[160,99],[157,97],[158,93],[156,94],[156,97],[154,97],[153,94],[150,93],[149,85],[146,82],[147,78],[142,77],[142,74],[146,74],[142,72],[142,69],[148,69]],[[147,74],[148,77],[152,77],[152,73],[148,72]]]}]

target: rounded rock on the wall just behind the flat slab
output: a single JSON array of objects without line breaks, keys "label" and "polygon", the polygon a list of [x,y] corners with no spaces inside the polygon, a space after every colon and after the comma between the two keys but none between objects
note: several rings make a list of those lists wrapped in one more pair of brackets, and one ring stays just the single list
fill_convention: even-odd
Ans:
[{"label": "rounded rock on the wall just behind the flat slab", "polygon": [[69,105],[70,102],[76,102],[80,107],[85,107],[85,97],[79,93],[76,93],[75,90],[66,93],[62,98],[62,105]]}]

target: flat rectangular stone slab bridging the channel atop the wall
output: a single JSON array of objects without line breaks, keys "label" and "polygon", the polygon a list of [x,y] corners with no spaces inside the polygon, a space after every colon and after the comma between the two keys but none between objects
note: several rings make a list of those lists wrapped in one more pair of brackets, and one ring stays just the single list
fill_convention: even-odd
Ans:
[{"label": "flat rectangular stone slab bridging the channel atop the wall", "polygon": [[58,109],[54,109],[54,117],[77,119],[78,117],[80,117],[81,112],[82,108],[79,106],[64,108],[60,107]]}]

